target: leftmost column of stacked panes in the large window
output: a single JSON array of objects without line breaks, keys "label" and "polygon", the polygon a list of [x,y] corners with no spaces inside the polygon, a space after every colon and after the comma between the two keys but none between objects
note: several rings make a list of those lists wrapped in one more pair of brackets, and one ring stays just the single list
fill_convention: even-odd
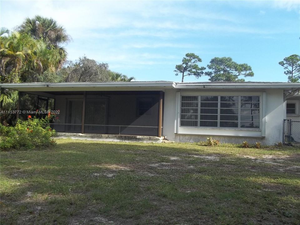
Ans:
[{"label": "leftmost column of stacked panes in the large window", "polygon": [[180,125],[188,127],[198,126],[199,97],[181,96]]}]

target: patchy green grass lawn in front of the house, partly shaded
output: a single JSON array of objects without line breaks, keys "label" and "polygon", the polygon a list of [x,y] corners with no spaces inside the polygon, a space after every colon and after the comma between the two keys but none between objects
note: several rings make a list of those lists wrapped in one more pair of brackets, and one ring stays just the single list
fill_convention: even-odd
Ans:
[{"label": "patchy green grass lawn in front of the house, partly shaded", "polygon": [[300,149],[59,139],[1,152],[1,224],[300,224]]}]

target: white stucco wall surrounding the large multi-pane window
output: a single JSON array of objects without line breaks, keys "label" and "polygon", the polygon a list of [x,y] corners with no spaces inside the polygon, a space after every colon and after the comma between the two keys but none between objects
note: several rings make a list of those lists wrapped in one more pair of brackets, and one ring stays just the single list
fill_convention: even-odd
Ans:
[{"label": "white stucco wall surrounding the large multi-pane window", "polygon": [[[188,92],[197,92],[197,90],[188,90]],[[198,91],[199,92],[199,91]],[[203,91],[202,91],[203,92]],[[211,91],[209,91],[211,92]],[[218,92],[215,90],[214,92]],[[224,93],[223,90],[219,92]],[[230,91],[232,94],[234,91]],[[249,92],[249,90],[239,90],[236,93]],[[178,133],[175,133],[176,128],[176,90],[166,90],[165,102],[164,102],[164,119],[163,119],[163,135],[168,140],[180,141],[180,142],[197,142],[199,140],[205,141],[207,137],[214,137],[221,142],[228,143],[242,143],[242,141],[248,141],[249,143],[261,142],[262,144],[274,144],[282,141],[283,133],[283,119],[285,118],[285,107],[283,100],[283,90],[280,89],[266,89],[255,90],[255,93],[265,93],[266,104],[263,106],[265,110],[265,134],[262,131],[244,131],[242,129],[225,128],[225,129],[207,129],[207,128],[192,128],[178,129]],[[229,93],[229,92],[228,92]],[[263,110],[262,110],[263,111]],[[263,127],[263,126],[262,126]],[[187,133],[183,133],[187,132]],[[196,134],[197,131],[200,135]],[[180,133],[180,134],[179,134]],[[265,137],[263,137],[265,136]]]}]

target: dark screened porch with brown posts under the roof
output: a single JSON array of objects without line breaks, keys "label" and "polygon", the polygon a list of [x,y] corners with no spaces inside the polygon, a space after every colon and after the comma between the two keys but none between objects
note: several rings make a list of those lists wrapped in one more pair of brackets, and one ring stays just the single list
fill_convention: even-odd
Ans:
[{"label": "dark screened porch with brown posts under the roof", "polygon": [[24,94],[21,99],[31,105],[37,101],[37,109],[59,109],[59,119],[51,125],[57,132],[162,136],[162,91],[44,93],[55,100]]}]

